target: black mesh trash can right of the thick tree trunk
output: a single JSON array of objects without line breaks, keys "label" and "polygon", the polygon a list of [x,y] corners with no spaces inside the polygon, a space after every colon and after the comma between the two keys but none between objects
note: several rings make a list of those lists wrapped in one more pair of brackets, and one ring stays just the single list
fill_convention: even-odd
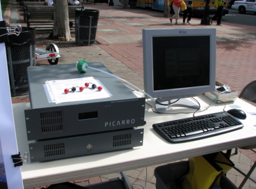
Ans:
[{"label": "black mesh trash can right of the thick tree trunk", "polygon": [[95,44],[99,11],[93,9],[75,10],[75,37],[78,45]]}]

